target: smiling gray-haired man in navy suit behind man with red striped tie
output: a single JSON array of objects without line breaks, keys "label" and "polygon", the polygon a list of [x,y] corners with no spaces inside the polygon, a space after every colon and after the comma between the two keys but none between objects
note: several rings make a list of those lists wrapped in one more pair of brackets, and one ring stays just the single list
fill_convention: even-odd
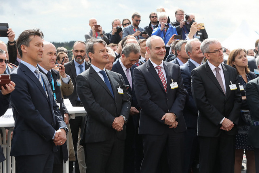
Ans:
[{"label": "smiling gray-haired man in navy suit behind man with red striped tie", "polygon": [[[180,44],[180,42],[178,42],[178,44]],[[198,137],[196,136],[198,109],[193,100],[191,91],[191,71],[196,67],[199,67],[201,65],[201,61],[204,58],[200,46],[201,42],[196,38],[188,41],[185,44],[185,50],[190,59],[188,59],[185,64],[180,66],[184,88],[188,92],[188,99],[186,99],[183,110],[184,120],[187,126],[184,142],[184,173],[191,172],[191,166],[193,161],[196,159],[195,156],[199,148]]]}]

